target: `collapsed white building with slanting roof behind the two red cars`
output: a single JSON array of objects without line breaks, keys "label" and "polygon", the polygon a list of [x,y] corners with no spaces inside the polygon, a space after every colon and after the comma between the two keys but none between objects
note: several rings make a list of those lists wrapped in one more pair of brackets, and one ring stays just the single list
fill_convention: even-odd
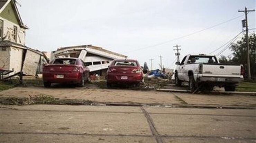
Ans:
[{"label": "collapsed white building with slanting roof behind the two red cars", "polygon": [[90,69],[90,74],[105,76],[107,68],[114,59],[126,59],[127,56],[121,55],[102,47],[92,45],[80,45],[61,47],[52,52],[51,60],[60,57],[81,58],[84,64]]}]

